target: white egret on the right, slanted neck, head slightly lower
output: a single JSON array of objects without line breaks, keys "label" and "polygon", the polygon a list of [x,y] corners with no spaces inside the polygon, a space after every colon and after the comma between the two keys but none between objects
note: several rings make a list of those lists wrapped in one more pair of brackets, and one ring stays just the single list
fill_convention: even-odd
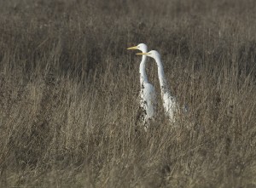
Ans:
[{"label": "white egret on the right, slanted neck, head slightly lower", "polygon": [[174,115],[178,109],[177,100],[174,96],[172,96],[170,89],[167,86],[164,67],[161,62],[160,54],[155,50],[151,50],[148,53],[137,53],[137,54],[147,55],[148,57],[151,57],[155,60],[158,67],[158,77],[160,81],[161,97],[163,100],[164,110],[165,110],[166,116],[169,117],[170,121],[175,122]]}]

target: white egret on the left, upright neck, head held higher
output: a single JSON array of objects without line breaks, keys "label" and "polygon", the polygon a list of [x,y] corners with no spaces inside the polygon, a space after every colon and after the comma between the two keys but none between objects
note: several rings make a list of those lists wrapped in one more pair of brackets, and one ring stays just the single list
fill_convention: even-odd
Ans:
[{"label": "white egret on the left, upright neck, head held higher", "polygon": [[[127,49],[138,49],[143,53],[148,52],[148,46],[144,43],[140,43],[137,46]],[[143,123],[145,130],[148,128],[148,122],[150,119],[154,119],[155,114],[155,91],[154,86],[148,83],[148,77],[146,74],[146,59],[147,56],[143,55],[143,60],[140,63],[140,107],[139,107],[139,120]]]}]

